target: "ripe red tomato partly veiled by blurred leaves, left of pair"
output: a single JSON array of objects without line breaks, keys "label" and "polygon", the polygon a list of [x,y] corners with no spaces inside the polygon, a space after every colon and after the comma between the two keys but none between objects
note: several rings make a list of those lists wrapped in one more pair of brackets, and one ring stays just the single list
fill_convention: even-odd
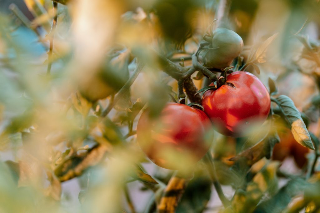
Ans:
[{"label": "ripe red tomato partly veiled by blurred leaves, left of pair", "polygon": [[168,103],[156,119],[144,111],[137,126],[142,151],[160,167],[181,169],[199,161],[212,143],[212,124],[201,110]]}]

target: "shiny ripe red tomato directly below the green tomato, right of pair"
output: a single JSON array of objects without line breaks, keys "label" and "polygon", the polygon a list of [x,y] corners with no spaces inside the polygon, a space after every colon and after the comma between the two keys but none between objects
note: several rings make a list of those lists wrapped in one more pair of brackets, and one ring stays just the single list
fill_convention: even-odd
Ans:
[{"label": "shiny ripe red tomato directly below the green tomato, right of pair", "polygon": [[270,96],[259,78],[237,71],[219,89],[206,91],[202,106],[218,132],[242,137],[266,120]]}]

